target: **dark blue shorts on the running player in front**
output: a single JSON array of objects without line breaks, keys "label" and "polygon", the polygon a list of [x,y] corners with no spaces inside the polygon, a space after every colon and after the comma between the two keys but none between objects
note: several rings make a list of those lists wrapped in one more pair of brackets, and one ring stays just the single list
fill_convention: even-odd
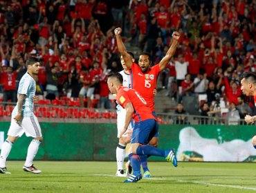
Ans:
[{"label": "dark blue shorts on the running player in front", "polygon": [[146,145],[158,134],[158,123],[154,119],[147,119],[134,124],[134,131],[131,135],[131,143]]}]

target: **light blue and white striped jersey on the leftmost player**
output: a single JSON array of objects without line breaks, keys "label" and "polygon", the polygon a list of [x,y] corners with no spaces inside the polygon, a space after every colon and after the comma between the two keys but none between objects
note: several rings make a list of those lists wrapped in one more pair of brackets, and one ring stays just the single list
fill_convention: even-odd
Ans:
[{"label": "light blue and white striped jersey on the leftmost player", "polygon": [[[23,75],[21,80],[19,81],[19,88],[17,96],[19,97],[19,94],[25,94],[25,102],[22,105],[22,116],[33,116],[33,109],[34,109],[34,96],[35,96],[35,90],[36,90],[36,83],[33,77],[28,74]],[[18,107],[15,106],[14,110],[12,111],[12,116],[16,116]]]}]

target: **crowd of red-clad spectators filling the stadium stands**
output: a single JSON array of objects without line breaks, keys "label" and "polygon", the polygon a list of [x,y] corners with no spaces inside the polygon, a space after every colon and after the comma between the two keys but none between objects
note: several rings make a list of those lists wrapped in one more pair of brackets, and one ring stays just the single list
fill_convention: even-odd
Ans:
[{"label": "crowd of red-clad spectators filling the stadium stands", "polygon": [[120,26],[123,40],[152,54],[154,63],[165,56],[172,32],[181,34],[161,74],[163,88],[179,103],[205,94],[199,105],[205,112],[208,103],[208,114],[228,103],[253,107],[238,97],[239,75],[255,72],[255,10],[253,0],[0,0],[3,101],[17,100],[32,55],[41,59],[36,81],[43,100],[67,97],[80,107],[113,108],[106,77],[121,70],[113,34]]}]

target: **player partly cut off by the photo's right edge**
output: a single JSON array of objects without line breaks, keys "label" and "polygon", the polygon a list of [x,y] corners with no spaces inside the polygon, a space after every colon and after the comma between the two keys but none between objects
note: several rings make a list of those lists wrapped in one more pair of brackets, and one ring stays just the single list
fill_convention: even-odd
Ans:
[{"label": "player partly cut off by the photo's right edge", "polygon": [[[241,77],[241,91],[246,96],[253,96],[256,106],[256,74],[254,72],[245,72]],[[256,116],[246,115],[244,120],[247,124],[252,124],[256,121]],[[256,149],[256,135],[253,136],[253,147]]]}]

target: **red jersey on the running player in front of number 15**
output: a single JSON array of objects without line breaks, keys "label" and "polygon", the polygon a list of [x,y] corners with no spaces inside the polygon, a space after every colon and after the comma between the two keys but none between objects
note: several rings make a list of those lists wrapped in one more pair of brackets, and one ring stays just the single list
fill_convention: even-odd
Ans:
[{"label": "red jersey on the running player in front of number 15", "polygon": [[140,96],[140,94],[138,94],[138,92],[136,92],[136,90],[121,86],[118,89],[116,100],[122,108],[125,108],[125,105],[131,102],[134,107],[132,119],[134,119],[135,123],[145,121],[147,119],[155,119],[149,106],[147,106],[147,102],[142,96]]}]

